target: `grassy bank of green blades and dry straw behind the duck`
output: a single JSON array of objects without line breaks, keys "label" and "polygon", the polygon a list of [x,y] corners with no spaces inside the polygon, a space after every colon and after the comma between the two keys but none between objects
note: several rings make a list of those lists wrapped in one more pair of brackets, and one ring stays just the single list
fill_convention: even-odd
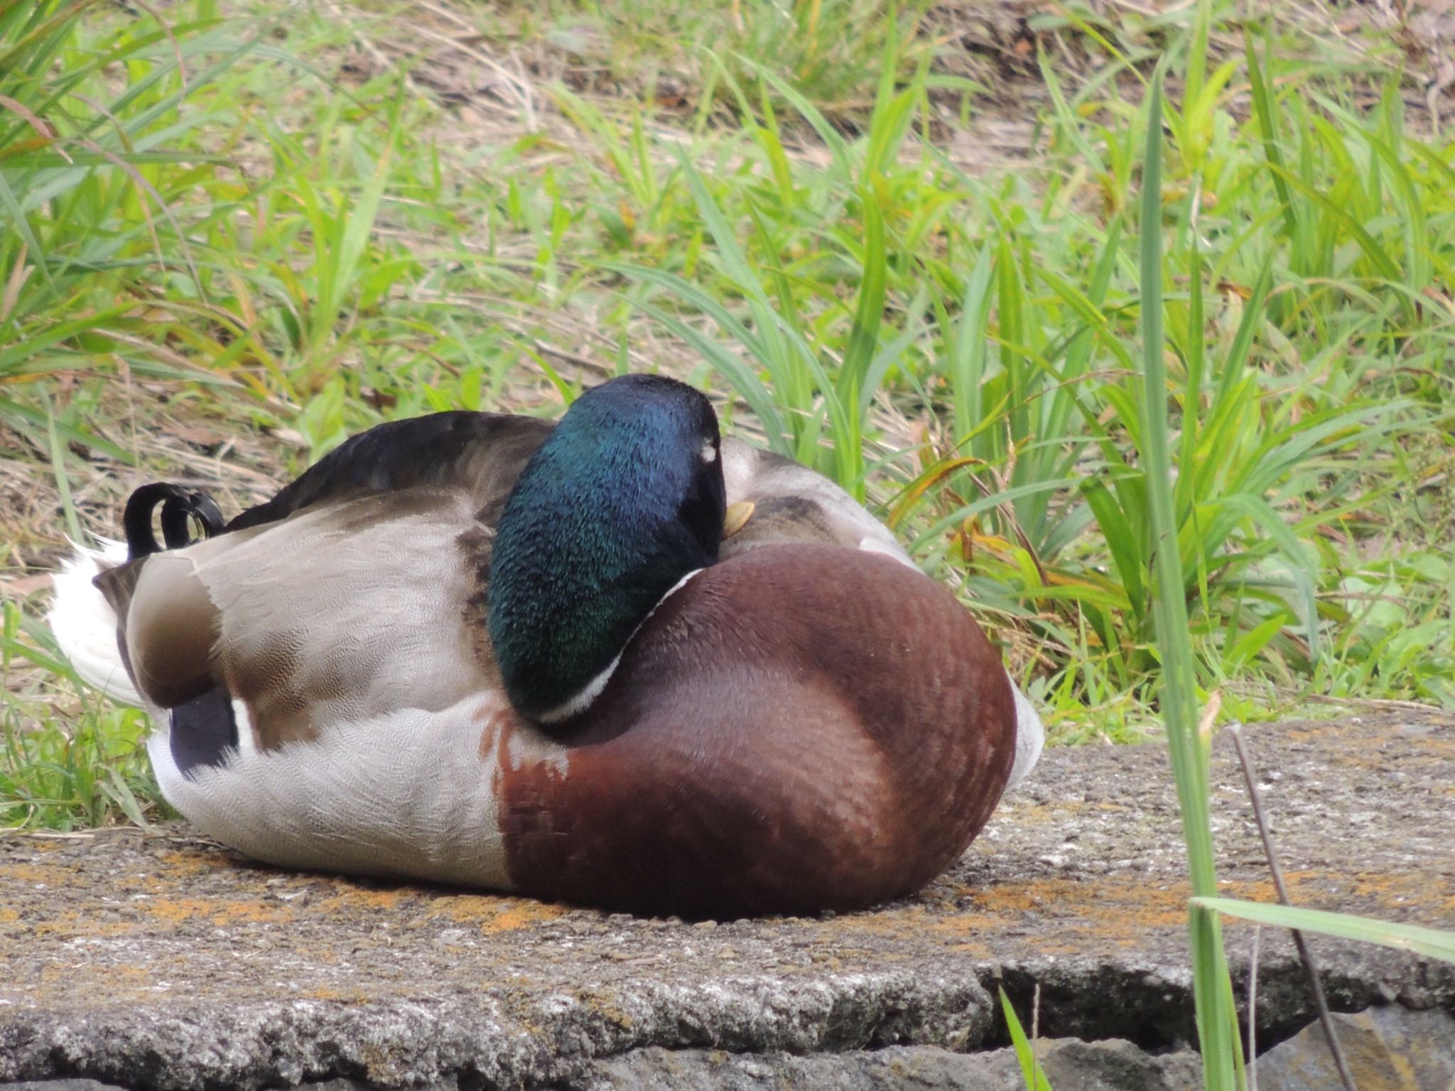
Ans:
[{"label": "grassy bank of green blades and dry straw behind the duck", "polygon": [[1164,49],[1211,57],[1170,73],[1157,224],[1199,698],[1455,706],[1455,145],[1397,28],[614,10],[0,4],[4,822],[157,806],[135,717],[49,671],[67,528],[157,476],[236,509],[377,420],[556,413],[620,369],[876,505],[1055,739],[1141,738]]}]

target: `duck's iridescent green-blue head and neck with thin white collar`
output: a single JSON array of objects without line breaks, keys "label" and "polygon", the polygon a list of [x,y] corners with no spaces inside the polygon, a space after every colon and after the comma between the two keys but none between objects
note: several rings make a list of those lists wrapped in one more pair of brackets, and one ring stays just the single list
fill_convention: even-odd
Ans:
[{"label": "duck's iridescent green-blue head and neck with thin white collar", "polygon": [[701,393],[623,375],[582,394],[527,464],[489,576],[490,642],[522,716],[582,711],[662,596],[717,560],[719,447]]}]

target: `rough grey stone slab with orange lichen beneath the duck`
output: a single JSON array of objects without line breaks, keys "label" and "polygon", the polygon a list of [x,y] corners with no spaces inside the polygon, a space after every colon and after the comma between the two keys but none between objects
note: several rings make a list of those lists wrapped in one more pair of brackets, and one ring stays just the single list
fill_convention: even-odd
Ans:
[{"label": "rough grey stone slab with orange lichen beneath the duck", "polygon": [[[1455,925],[1455,717],[1248,742],[1296,902]],[[1229,755],[1219,743],[1213,770],[1225,890],[1272,900]],[[1023,1014],[1040,986],[1045,1037],[1179,1047],[1195,1037],[1186,896],[1161,746],[1052,751],[921,895],[813,919],[633,919],[282,873],[183,826],[17,835],[0,839],[0,1081],[578,1087],[653,1047],[966,1052],[1005,1044],[998,985]],[[1228,924],[1240,988],[1251,934]],[[1336,1008],[1455,1007],[1455,967],[1312,946]],[[1263,1040],[1310,1017],[1292,946],[1264,930]]]}]

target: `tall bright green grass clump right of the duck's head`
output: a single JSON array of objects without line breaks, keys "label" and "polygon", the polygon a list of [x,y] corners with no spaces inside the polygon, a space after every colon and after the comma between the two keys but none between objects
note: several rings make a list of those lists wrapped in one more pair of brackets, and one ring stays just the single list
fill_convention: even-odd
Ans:
[{"label": "tall bright green grass clump right of the duck's head", "polygon": [[[810,103],[796,105],[832,134]],[[672,255],[607,268],[631,276],[637,307],[711,361],[771,444],[856,492],[873,493],[876,481],[880,496],[898,492],[893,518],[930,569],[959,572],[1007,617],[1033,615],[1026,628],[1056,663],[1043,695],[1141,704],[1158,656],[1138,463],[1147,436],[1126,348],[1136,314],[1131,202],[1096,215],[1055,185],[1039,198],[1014,186],[1014,199],[998,196],[911,141],[905,119],[917,106],[927,109],[922,80],[883,93],[860,141],[825,137],[834,169],[818,185],[792,172],[780,180],[786,154],[765,108],[762,124],[746,124],[752,143],[733,148],[758,170],[682,164],[665,186],[662,204],[687,189],[695,231],[711,243],[691,275],[671,268]],[[1077,122],[1085,111],[1067,103],[1058,115],[1058,125],[1078,125],[1083,144],[1094,128]],[[1374,636],[1343,624],[1342,591],[1359,586],[1346,580],[1363,563],[1331,556],[1326,529],[1358,535],[1360,522],[1404,518],[1381,503],[1390,452],[1417,464],[1417,476],[1448,464],[1424,436],[1451,412],[1436,368],[1449,314],[1411,314],[1391,303],[1398,285],[1371,279],[1411,240],[1372,209],[1378,240],[1343,209],[1311,212],[1323,236],[1350,240],[1326,247],[1317,268],[1296,239],[1266,233],[1286,179],[1264,159],[1256,121],[1240,131],[1208,108],[1170,116],[1192,145],[1170,164],[1173,188],[1192,196],[1167,224],[1168,266],[1187,285],[1167,301],[1184,467],[1176,541],[1199,679],[1228,688],[1244,714],[1312,688],[1334,647]],[[1304,185],[1342,176],[1358,140],[1308,148]],[[1119,131],[1103,132],[1103,147],[1120,143]],[[1087,166],[1099,188],[1120,172]],[[1232,175],[1237,183],[1213,195],[1208,177]],[[1422,172],[1426,192],[1439,192],[1436,175]],[[840,223],[815,220],[825,214]],[[1449,217],[1439,223],[1420,247],[1449,247]],[[1369,247],[1390,262],[1368,257]],[[866,332],[877,351],[866,351]],[[1411,353],[1423,364],[1407,368]],[[876,406],[909,406],[927,426],[920,448],[905,455],[902,438],[876,426]],[[901,455],[861,461],[857,447],[844,451],[847,436]],[[1427,614],[1432,634],[1442,610]],[[1384,691],[1440,700],[1451,649],[1438,639],[1432,652],[1420,666],[1385,659]],[[1263,685],[1247,685],[1250,668]]]}]

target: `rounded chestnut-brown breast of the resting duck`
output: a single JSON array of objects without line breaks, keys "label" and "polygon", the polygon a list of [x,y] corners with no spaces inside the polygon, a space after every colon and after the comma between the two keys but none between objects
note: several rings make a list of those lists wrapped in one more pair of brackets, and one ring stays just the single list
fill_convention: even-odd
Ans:
[{"label": "rounded chestnut-brown breast of the resting duck", "polygon": [[1000,656],[946,588],[826,546],[695,576],[582,719],[565,770],[505,771],[512,880],[684,916],[920,889],[989,818],[1016,732]]}]

